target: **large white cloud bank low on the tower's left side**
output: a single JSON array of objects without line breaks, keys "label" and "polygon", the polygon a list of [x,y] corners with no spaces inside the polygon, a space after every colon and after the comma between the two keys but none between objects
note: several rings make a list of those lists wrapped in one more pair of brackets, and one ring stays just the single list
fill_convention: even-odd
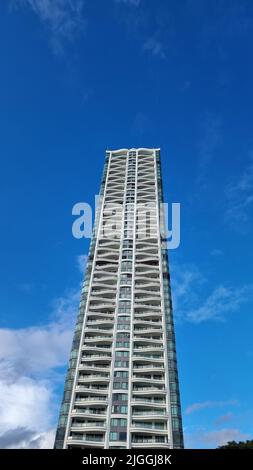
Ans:
[{"label": "large white cloud bank low on the tower's left side", "polygon": [[0,329],[0,447],[52,447],[60,398],[57,368],[66,364],[80,289],[53,302],[46,325]]}]

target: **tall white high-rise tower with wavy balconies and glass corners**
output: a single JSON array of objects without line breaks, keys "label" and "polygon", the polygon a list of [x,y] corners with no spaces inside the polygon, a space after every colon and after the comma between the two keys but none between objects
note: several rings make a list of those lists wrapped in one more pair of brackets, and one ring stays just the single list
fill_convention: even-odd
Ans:
[{"label": "tall white high-rise tower with wavy balconies and glass corners", "polygon": [[182,448],[159,149],[107,151],[55,448]]}]

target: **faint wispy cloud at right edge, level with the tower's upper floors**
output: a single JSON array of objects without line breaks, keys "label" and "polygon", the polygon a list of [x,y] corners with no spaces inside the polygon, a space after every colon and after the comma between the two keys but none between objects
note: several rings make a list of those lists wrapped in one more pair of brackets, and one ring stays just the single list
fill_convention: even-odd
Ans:
[{"label": "faint wispy cloud at right edge, level with the tower's upper floors", "polygon": [[225,220],[243,232],[253,215],[253,152],[242,174],[236,181],[227,185],[225,195],[227,199]]}]

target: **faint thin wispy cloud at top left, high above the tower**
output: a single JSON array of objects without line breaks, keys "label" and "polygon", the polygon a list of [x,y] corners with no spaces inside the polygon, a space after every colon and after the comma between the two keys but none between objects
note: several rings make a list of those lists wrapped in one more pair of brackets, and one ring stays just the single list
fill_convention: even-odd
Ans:
[{"label": "faint thin wispy cloud at top left, high above the tower", "polygon": [[84,0],[11,0],[12,8],[27,7],[49,31],[49,42],[56,55],[64,54],[67,43],[73,42],[84,29]]}]

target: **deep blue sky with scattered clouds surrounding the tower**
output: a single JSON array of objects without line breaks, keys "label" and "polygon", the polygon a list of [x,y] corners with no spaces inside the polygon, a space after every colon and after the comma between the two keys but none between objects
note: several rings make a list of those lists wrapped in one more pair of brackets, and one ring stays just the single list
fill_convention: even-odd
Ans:
[{"label": "deep blue sky with scattered clouds surrounding the tower", "polygon": [[5,0],[0,36],[1,447],[52,445],[89,245],[72,206],[106,148],[143,146],[182,205],[186,446],[252,438],[252,2]]}]

